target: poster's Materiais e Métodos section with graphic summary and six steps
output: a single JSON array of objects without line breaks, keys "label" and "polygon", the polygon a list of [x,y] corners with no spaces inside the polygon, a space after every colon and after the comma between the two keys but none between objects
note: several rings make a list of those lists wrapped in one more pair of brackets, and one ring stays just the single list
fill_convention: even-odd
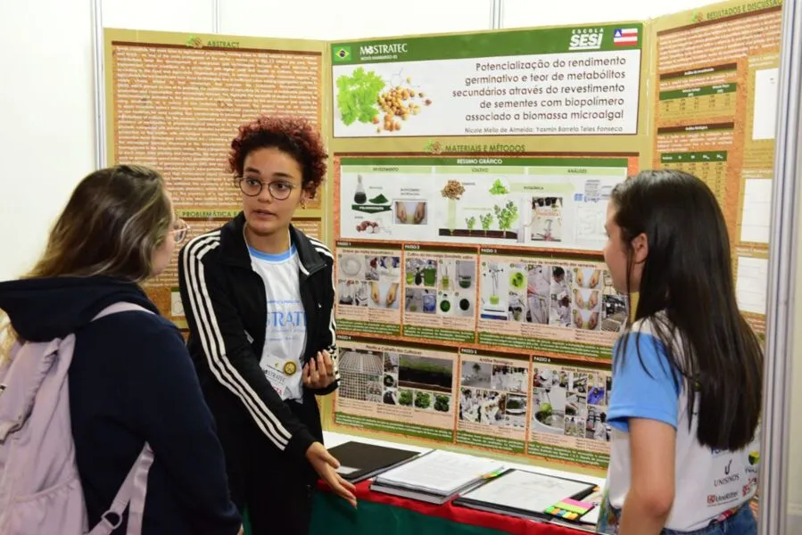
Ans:
[{"label": "poster's Materiais e M\u00e9todos section with graphic summary and six steps", "polygon": [[[608,373],[626,299],[600,250],[610,192],[638,161],[638,152],[335,153],[336,320],[344,353],[333,429],[603,467],[608,443],[577,433],[595,432],[604,403],[594,398],[589,408],[584,397],[575,400],[570,407],[579,412],[559,420],[555,438],[542,426],[565,416],[566,402],[546,424],[533,416],[542,395],[531,362],[553,358],[566,370]],[[358,343],[374,335],[382,342]],[[405,357],[409,347],[425,348],[426,366]],[[398,377],[382,380],[380,399],[369,373],[373,401],[355,399],[368,373],[357,373],[355,363],[378,363],[379,353],[401,355]],[[441,377],[443,366],[454,368],[433,391],[427,379],[404,379],[413,363]],[[430,403],[435,419],[426,412]],[[448,426],[436,414],[446,403],[455,411]]]}]

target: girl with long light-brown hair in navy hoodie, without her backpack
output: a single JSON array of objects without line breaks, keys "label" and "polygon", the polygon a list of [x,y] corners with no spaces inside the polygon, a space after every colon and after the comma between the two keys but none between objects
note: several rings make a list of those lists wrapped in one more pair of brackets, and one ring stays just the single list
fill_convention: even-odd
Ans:
[{"label": "girl with long light-brown hair in navy hoodie, without her backpack", "polygon": [[[158,173],[101,169],[76,187],[29,274],[0,283],[0,366],[13,342],[75,333],[70,420],[90,525],[101,521],[147,442],[154,461],[144,534],[241,530],[184,340],[139,285],[167,268],[186,231]],[[92,321],[118,302],[145,310]],[[127,515],[120,520],[114,533],[126,532]]]}]

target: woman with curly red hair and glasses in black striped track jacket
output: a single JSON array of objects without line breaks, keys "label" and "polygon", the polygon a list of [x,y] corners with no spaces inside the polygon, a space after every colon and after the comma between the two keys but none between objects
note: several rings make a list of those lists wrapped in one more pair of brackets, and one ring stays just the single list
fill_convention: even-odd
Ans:
[{"label": "woman with curly red hair and glasses in black striped track jacket", "polygon": [[316,395],[339,382],[334,258],[293,226],[327,153],[307,121],[239,128],[228,164],[243,210],[179,256],[188,347],[215,416],[234,502],[254,535],[309,532],[318,476],[356,506],[323,446]]}]

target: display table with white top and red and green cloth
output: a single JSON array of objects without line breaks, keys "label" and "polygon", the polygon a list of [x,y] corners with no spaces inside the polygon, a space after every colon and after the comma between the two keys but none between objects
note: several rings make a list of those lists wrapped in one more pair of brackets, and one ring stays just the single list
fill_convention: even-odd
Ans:
[{"label": "display table with white top and red and green cloth", "polygon": [[[333,448],[348,440],[358,440],[412,451],[426,451],[425,448],[351,437],[340,433],[326,432],[327,448]],[[550,475],[566,475],[557,470],[534,467],[532,465],[509,464],[509,467],[525,468],[533,472]],[[575,474],[568,474],[576,477]],[[599,478],[583,476],[583,480],[602,484]],[[451,503],[435,506],[417,500],[398,498],[373,492],[370,481],[357,485],[357,509],[345,500],[335,496],[324,483],[318,486],[315,495],[314,511],[310,534],[326,535],[425,535],[426,533],[449,533],[453,535],[583,535],[587,531],[572,530],[554,524],[536,523],[505,514],[484,513]],[[245,529],[246,535],[249,530]]]}]

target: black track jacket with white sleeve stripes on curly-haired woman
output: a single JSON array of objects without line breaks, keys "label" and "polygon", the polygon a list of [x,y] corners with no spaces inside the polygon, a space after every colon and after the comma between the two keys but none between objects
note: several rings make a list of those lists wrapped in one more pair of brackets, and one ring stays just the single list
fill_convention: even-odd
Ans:
[{"label": "black track jacket with white sleeve stripes on curly-haired woman", "polygon": [[307,317],[303,362],[327,350],[335,363],[334,383],[325,390],[305,389],[303,403],[314,407],[318,421],[303,423],[286,404],[294,401],[285,403],[260,369],[268,306],[264,282],[251,266],[244,223],[240,213],[219,229],[194,238],[178,256],[189,352],[202,384],[222,384],[243,403],[277,449],[305,458],[312,442],[322,440],[315,395],[335,391],[339,383],[334,257],[326,245],[290,226],[301,264],[298,276]]}]

